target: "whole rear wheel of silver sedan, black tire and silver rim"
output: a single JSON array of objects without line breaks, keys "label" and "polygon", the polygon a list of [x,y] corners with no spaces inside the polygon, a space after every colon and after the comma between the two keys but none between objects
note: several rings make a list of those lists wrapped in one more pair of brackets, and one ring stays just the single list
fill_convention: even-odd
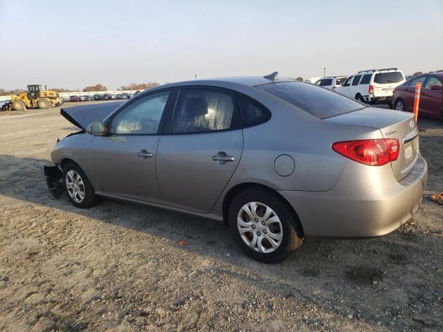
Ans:
[{"label": "whole rear wheel of silver sedan, black tire and silver rim", "polygon": [[279,263],[300,247],[300,221],[271,191],[251,187],[230,204],[230,232],[242,251],[262,263]]}]

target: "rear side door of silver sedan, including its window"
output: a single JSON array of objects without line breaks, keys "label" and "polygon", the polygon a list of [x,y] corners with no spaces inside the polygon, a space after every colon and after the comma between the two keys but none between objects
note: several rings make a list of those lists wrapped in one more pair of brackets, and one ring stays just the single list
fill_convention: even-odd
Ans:
[{"label": "rear side door of silver sedan, including its window", "polygon": [[227,89],[183,87],[169,133],[157,150],[165,205],[208,213],[233,176],[243,151],[241,118]]}]

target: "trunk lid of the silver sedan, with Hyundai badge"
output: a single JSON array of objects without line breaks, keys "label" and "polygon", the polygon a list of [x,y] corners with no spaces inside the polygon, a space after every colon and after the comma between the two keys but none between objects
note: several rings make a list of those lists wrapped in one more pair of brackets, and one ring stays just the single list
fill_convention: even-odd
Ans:
[{"label": "trunk lid of the silver sedan, with Hyundai badge", "polygon": [[397,181],[407,176],[417,162],[419,138],[412,113],[367,107],[325,121],[379,129],[383,138],[397,138],[400,143],[399,156],[391,161]]}]

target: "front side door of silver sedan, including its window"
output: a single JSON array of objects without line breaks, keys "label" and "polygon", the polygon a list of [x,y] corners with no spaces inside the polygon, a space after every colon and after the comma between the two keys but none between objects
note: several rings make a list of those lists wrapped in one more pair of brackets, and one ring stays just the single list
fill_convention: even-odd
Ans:
[{"label": "front side door of silver sedan, including its window", "polygon": [[98,192],[163,203],[156,178],[156,149],[172,91],[156,91],[129,102],[95,136],[90,160]]}]

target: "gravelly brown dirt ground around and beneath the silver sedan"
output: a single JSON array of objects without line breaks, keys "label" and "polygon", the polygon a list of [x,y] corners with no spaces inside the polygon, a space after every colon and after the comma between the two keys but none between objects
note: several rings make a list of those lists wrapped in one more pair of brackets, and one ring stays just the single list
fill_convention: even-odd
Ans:
[{"label": "gravelly brown dirt ground around and beneath the silver sedan", "polygon": [[[0,115],[1,331],[443,331],[443,122],[419,120],[429,165],[415,217],[386,237],[305,239],[248,259],[223,223],[103,199],[51,199],[60,109]],[[179,240],[188,245],[179,246]]]}]

